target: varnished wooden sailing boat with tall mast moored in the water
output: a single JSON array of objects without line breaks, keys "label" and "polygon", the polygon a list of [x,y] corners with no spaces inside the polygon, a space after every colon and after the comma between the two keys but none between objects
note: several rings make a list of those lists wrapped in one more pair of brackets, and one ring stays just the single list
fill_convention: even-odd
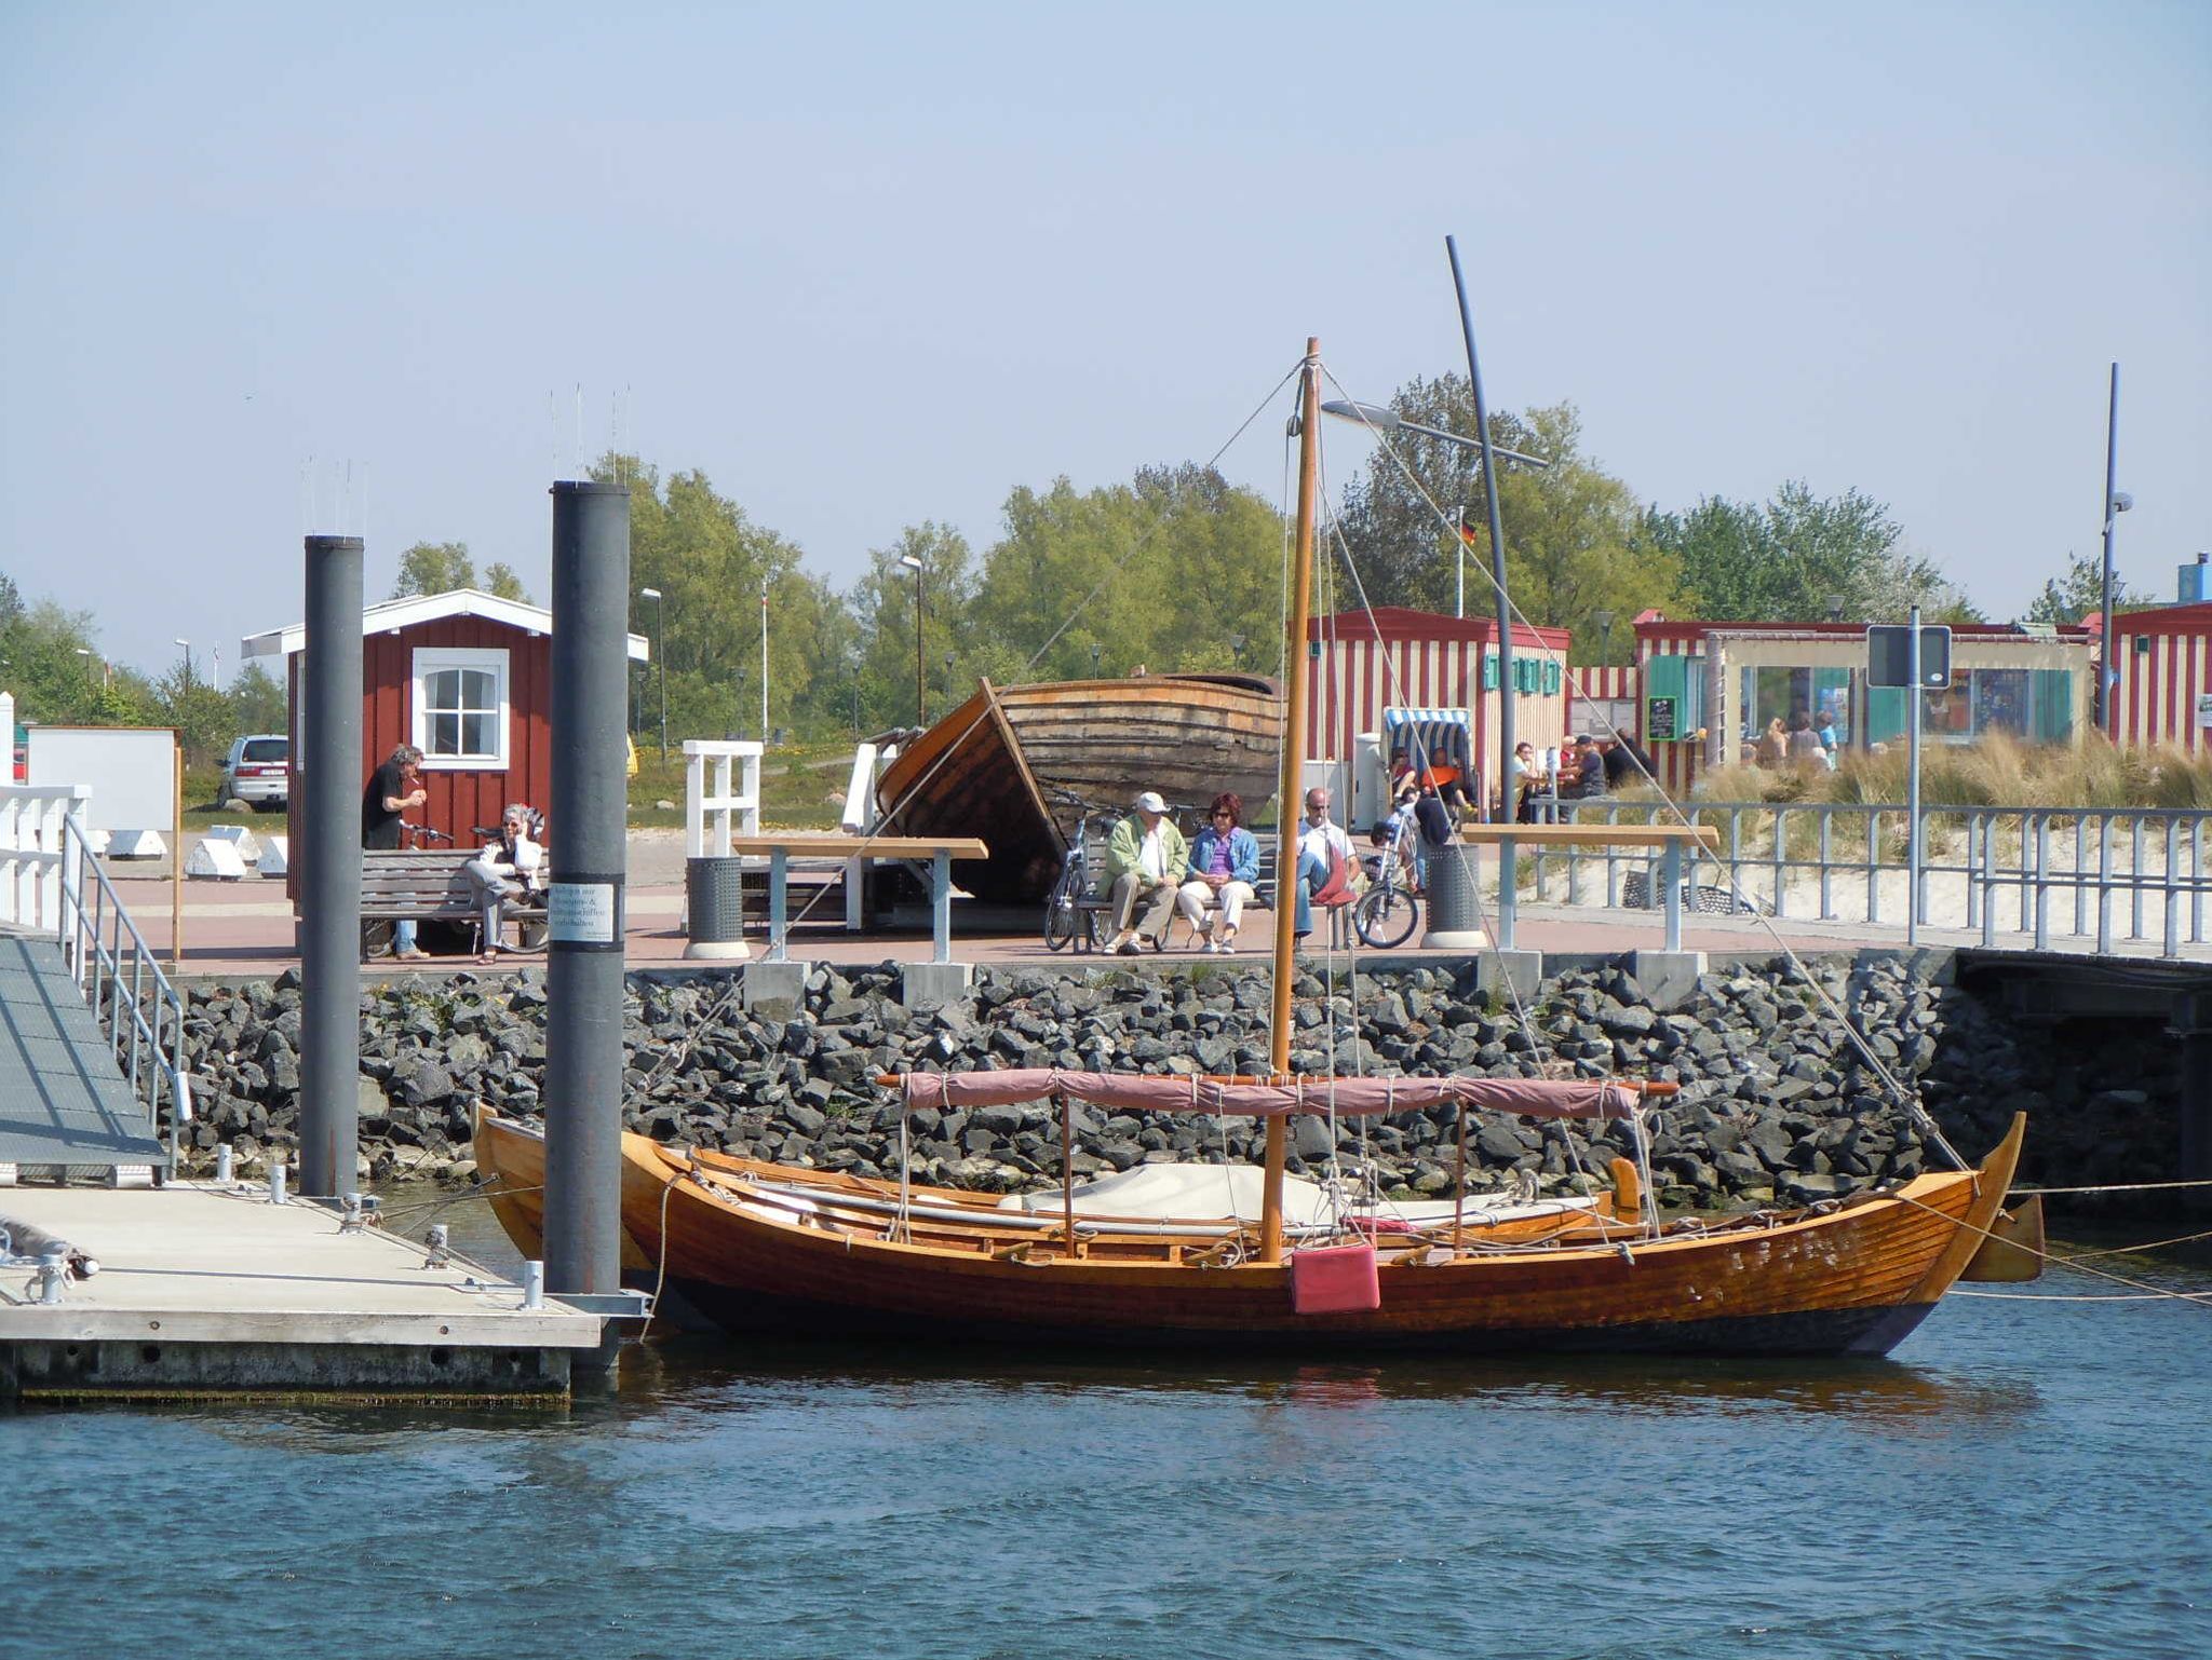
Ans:
[{"label": "varnished wooden sailing boat with tall mast moored in the water", "polygon": [[[1285,729],[1305,729],[1318,343],[1307,343]],[[1298,789],[1283,745],[1281,800]],[[1283,813],[1281,869],[1296,869]],[[1263,1079],[1077,1072],[914,1072],[883,1079],[907,1110],[1051,1099],[1062,1152],[1071,1101],[1115,1110],[1252,1114],[1265,1121],[1256,1229],[1221,1218],[1115,1222],[1064,1211],[1015,1220],[973,1196],[905,1178],[860,1183],[661,1147],[624,1136],[624,1262],[732,1331],[838,1337],[984,1337],[1296,1353],[1677,1351],[1887,1353],[1958,1280],[1991,1231],[2026,1121],[1980,1169],[1805,1211],[1630,1227],[1555,1220],[1531,1231],[1467,1225],[1340,1240],[1285,1238],[1285,1125],[1298,1112],[1451,1105],[1522,1116],[1635,1118],[1672,1085],[1544,1079],[1296,1079],[1290,1074],[1292,937],[1276,931],[1274,1072]],[[1462,1116],[1464,1123],[1464,1116]],[[544,1143],[500,1118],[478,1125],[491,1202],[524,1251],[542,1233]],[[1057,1220],[1057,1227],[1053,1222]]]}]

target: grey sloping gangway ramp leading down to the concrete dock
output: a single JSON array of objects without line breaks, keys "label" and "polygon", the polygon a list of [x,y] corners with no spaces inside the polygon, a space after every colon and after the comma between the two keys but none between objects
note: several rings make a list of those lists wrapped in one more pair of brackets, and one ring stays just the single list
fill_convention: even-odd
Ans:
[{"label": "grey sloping gangway ramp leading down to the concrete dock", "polygon": [[164,1160],[62,946],[0,935],[0,1163],[97,1172]]}]

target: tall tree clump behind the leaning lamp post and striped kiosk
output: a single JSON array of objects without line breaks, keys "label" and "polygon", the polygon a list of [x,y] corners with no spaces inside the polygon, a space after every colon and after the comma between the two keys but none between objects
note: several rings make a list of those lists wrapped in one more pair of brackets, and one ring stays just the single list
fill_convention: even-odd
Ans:
[{"label": "tall tree clump behind the leaning lamp post and striped kiosk", "polygon": [[[1425,427],[1475,431],[1475,400],[1464,376],[1409,380],[1391,396],[1391,407]],[[1451,517],[1464,506],[1475,533],[1467,550],[1467,610],[1493,614],[1480,451],[1407,429],[1387,440],[1389,453],[1376,453],[1345,488],[1338,515],[1369,603],[1453,610],[1460,555]],[[1610,652],[1626,656],[1630,632],[1621,623],[1648,606],[1674,601],[1672,553],[1641,535],[1628,486],[1582,453],[1582,418],[1573,405],[1524,416],[1495,411],[1491,442],[1551,462],[1546,469],[1502,462],[1498,471],[1513,603],[1533,623],[1575,630],[1577,661],[1595,661],[1601,630],[1593,619],[1610,612],[1617,621]],[[1347,584],[1347,592],[1358,588]]]}]

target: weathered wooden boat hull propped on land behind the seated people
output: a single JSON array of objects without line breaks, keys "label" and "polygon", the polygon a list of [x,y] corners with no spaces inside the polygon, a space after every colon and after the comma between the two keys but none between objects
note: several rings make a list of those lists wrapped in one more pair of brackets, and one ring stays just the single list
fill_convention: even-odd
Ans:
[{"label": "weathered wooden boat hull propped on land behind the seated people", "polygon": [[956,862],[980,900],[1042,900],[1075,840],[1073,794],[1121,809],[1139,789],[1203,807],[1223,789],[1250,811],[1274,794],[1283,692],[1256,674],[1133,674],[991,685],[907,743],[876,782],[900,836],[980,836]]}]

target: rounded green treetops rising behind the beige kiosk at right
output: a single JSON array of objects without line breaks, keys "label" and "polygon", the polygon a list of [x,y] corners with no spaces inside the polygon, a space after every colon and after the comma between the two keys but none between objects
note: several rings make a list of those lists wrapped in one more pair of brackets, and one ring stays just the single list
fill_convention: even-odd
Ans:
[{"label": "rounded green treetops rising behind the beige kiosk at right", "polygon": [[1816,497],[1803,480],[1767,502],[1708,495],[1688,513],[1644,515],[1644,539],[1681,566],[1683,603],[1712,621],[1891,621],[1918,601],[1929,617],[1971,608],[1905,546],[1889,508],[1851,488]]}]

